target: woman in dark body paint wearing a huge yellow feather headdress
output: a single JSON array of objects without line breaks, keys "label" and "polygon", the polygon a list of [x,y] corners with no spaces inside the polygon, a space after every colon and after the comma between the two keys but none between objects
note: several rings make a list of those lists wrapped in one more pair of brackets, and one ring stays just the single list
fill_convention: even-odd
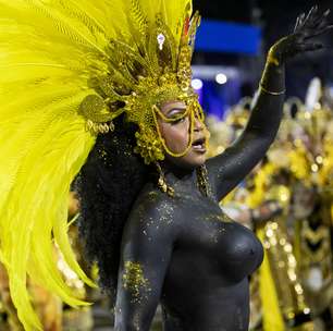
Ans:
[{"label": "woman in dark body paint wearing a huge yellow feather headdress", "polygon": [[[218,201],[272,143],[284,63],[321,48],[311,39],[329,28],[329,12],[313,8],[272,47],[247,128],[209,161],[190,88],[200,17],[190,19],[189,0],[1,0],[0,12],[1,137],[14,146],[1,148],[9,179],[1,187],[1,259],[25,328],[38,328],[26,272],[82,304],[52,261],[52,234],[89,283],[65,236],[70,184],[85,163],[82,232],[102,285],[111,293],[118,286],[115,329],[148,330],[161,301],[165,330],[246,330],[247,277],[262,248]],[[149,176],[155,169],[158,184]]]}]

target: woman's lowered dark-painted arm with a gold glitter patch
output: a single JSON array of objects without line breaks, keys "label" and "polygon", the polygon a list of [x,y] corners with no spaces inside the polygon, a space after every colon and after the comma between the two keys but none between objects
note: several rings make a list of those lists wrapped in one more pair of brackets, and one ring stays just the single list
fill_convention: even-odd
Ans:
[{"label": "woman's lowered dark-painted arm with a gold glitter patch", "polygon": [[127,221],[119,270],[115,330],[149,330],[174,242],[173,229],[163,212],[157,205],[143,204]]}]

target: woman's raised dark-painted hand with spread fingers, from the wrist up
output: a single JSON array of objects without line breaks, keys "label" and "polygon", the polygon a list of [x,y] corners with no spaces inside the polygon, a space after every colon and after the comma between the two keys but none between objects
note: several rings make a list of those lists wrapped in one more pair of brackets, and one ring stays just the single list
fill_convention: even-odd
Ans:
[{"label": "woman's raised dark-painted hand with spread fingers, from the wrist up", "polygon": [[323,45],[314,42],[313,38],[333,28],[328,22],[329,14],[330,10],[322,13],[314,5],[307,15],[305,13],[299,15],[294,33],[271,47],[269,62],[280,65],[297,54],[322,49]]}]

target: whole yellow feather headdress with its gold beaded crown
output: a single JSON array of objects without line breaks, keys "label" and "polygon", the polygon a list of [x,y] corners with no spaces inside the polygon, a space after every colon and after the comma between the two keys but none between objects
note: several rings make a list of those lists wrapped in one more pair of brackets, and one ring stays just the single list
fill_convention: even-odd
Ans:
[{"label": "whole yellow feather headdress with its gold beaded crown", "polygon": [[156,127],[163,101],[184,100],[184,115],[202,119],[190,88],[199,16],[190,16],[192,0],[0,0],[0,257],[26,330],[41,329],[27,275],[86,304],[62,279],[53,241],[94,285],[66,232],[70,185],[96,134],[125,112],[149,163],[165,145]]}]

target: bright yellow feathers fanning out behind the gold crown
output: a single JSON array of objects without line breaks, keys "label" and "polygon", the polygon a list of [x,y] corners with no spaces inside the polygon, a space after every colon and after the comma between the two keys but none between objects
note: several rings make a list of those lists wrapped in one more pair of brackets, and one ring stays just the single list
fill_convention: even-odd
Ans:
[{"label": "bright yellow feathers fanning out behind the gold crown", "polygon": [[137,51],[135,34],[157,13],[180,44],[190,11],[190,0],[0,0],[0,258],[25,330],[42,329],[27,275],[67,304],[86,305],[57,268],[54,241],[94,285],[67,237],[70,185],[95,145],[78,114],[95,93],[88,79],[109,73],[111,39]]}]

